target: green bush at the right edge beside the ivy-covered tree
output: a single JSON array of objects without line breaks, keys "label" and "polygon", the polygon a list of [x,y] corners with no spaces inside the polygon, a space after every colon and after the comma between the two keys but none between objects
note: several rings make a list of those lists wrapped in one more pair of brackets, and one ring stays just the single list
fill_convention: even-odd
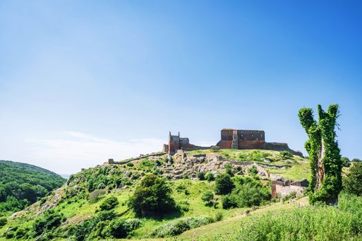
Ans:
[{"label": "green bush at the right edge beside the ivy-covered tree", "polygon": [[350,172],[343,178],[343,188],[348,193],[362,196],[362,163],[353,163]]}]

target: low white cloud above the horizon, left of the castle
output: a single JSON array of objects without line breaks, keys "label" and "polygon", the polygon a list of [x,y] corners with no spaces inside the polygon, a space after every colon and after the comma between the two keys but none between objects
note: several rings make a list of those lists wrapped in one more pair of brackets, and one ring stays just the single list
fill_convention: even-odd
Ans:
[{"label": "low white cloud above the horizon, left of the castle", "polygon": [[161,151],[164,140],[157,138],[132,139],[126,142],[98,138],[81,132],[64,132],[66,138],[28,140],[32,148],[34,165],[50,169],[58,174],[72,174],[81,168],[94,167],[108,158],[125,158]]}]

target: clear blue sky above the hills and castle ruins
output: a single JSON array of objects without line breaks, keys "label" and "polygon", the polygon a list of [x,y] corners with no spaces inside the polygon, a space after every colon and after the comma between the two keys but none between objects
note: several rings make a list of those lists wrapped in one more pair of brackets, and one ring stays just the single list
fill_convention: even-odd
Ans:
[{"label": "clear blue sky above the hills and castle ruins", "polygon": [[361,1],[0,1],[0,159],[71,174],[262,129],[305,153],[301,107],[341,107],[362,158]]}]

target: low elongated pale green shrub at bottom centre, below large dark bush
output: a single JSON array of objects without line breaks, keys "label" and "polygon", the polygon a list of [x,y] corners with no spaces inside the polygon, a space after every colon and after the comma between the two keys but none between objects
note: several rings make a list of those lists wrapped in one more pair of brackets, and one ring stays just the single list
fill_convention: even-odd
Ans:
[{"label": "low elongated pale green shrub at bottom centre, below large dark bush", "polygon": [[212,218],[206,216],[192,217],[192,218],[180,218],[172,222],[163,224],[151,233],[152,238],[165,238],[172,237],[188,231],[189,229],[194,229],[201,227],[205,224],[213,222]]}]

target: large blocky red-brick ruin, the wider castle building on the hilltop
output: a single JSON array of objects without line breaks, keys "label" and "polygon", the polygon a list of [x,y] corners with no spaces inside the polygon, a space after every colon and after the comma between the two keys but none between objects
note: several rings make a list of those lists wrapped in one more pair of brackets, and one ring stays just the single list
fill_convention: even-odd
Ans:
[{"label": "large blocky red-brick ruin, the wider castle building on the hilltop", "polygon": [[222,129],[221,140],[217,145],[221,149],[232,149],[235,132],[237,132],[238,149],[264,149],[265,132],[257,130]]}]

